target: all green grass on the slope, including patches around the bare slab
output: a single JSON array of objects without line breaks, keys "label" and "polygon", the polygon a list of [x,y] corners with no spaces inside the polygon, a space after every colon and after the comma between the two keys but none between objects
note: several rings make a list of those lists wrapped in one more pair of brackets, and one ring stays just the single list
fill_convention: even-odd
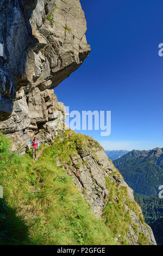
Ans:
[{"label": "all green grass on the slope, including patches around the bare slab", "polygon": [[[0,134],[0,167],[12,156],[9,141]],[[106,177],[108,204],[98,219],[74,186],[71,176],[61,169],[77,154],[77,145],[101,147],[82,134],[66,131],[40,158],[33,162],[31,152],[16,155],[0,171],[4,199],[0,199],[0,245],[125,245],[130,224],[127,205],[145,224],[139,206],[128,198],[125,187]],[[43,147],[43,146],[41,146]],[[41,148],[42,151],[42,148]],[[57,166],[56,157],[62,165]],[[120,175],[118,171],[114,173]],[[116,242],[116,237],[120,238]],[[149,244],[143,233],[137,244]]]}]

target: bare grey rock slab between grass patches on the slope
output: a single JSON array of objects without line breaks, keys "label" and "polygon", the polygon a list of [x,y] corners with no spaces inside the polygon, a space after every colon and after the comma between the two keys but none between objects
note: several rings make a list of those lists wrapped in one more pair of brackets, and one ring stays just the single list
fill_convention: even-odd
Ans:
[{"label": "bare grey rock slab between grass patches on the slope", "polygon": [[[77,146],[78,154],[71,157],[71,168],[66,165],[65,169],[70,171],[75,184],[83,193],[87,203],[92,206],[92,211],[98,217],[102,217],[106,205],[108,190],[106,189],[105,176],[115,171],[114,165],[104,153],[101,147],[83,148]],[[112,176],[112,182],[117,182],[119,186],[126,186],[128,195],[134,200],[133,190],[128,187],[120,176]]]}]

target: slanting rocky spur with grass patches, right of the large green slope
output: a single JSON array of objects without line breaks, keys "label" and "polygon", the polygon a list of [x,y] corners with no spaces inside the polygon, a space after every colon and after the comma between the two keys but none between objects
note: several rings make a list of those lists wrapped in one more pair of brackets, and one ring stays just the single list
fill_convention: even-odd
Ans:
[{"label": "slanting rocky spur with grass patches, right of the large green slope", "polygon": [[[59,159],[57,156],[57,165],[64,168],[67,175],[73,177],[74,184],[78,186],[92,211],[105,221],[107,216],[107,214],[105,216],[105,208],[109,207],[110,212],[110,205],[113,205],[112,207],[116,209],[116,218],[121,218],[122,213],[118,211],[123,212],[121,225],[127,223],[124,226],[126,234],[123,236],[129,245],[156,245],[152,229],[145,223],[141,208],[134,200],[133,189],[124,181],[101,145],[88,136],[75,135],[71,130],[67,133],[68,136],[61,138],[61,143],[64,141],[65,145],[71,145],[74,141],[76,148],[74,152],[70,152],[70,161],[65,162],[63,157]],[[60,148],[59,145],[58,147]],[[109,185],[106,178],[109,179]],[[118,225],[117,221],[112,220],[112,222],[109,226],[111,230],[116,229]],[[118,241],[120,237],[122,234],[117,233]]]}]

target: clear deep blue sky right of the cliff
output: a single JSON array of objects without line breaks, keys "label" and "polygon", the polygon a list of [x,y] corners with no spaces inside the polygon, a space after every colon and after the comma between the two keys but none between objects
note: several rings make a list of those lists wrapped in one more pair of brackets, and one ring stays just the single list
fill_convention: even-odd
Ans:
[{"label": "clear deep blue sky right of the cliff", "polygon": [[55,93],[72,110],[110,110],[108,150],[163,147],[162,0],[81,0],[90,56]]}]

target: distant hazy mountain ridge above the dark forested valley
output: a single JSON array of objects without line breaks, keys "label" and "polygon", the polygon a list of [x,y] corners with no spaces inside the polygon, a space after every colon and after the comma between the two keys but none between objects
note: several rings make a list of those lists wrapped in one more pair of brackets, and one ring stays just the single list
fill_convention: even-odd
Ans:
[{"label": "distant hazy mountain ridge above the dark forested valley", "polygon": [[133,150],[113,163],[135,193],[158,195],[163,184],[163,148]]}]

